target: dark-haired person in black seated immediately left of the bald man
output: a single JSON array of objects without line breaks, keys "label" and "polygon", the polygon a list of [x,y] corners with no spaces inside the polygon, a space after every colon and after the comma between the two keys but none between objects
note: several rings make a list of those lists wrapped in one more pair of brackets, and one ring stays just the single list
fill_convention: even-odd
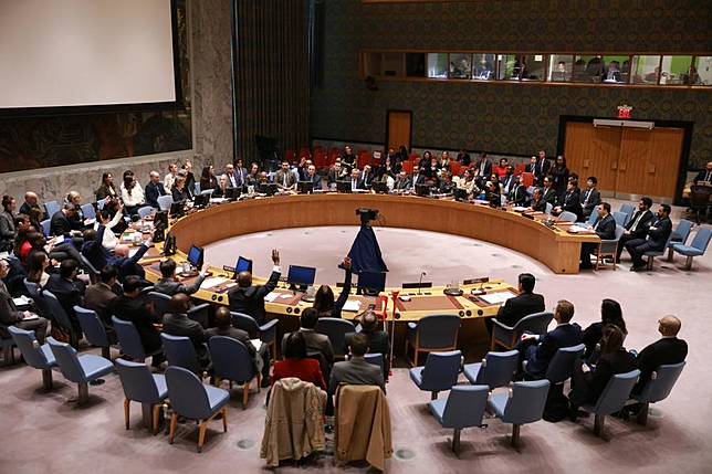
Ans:
[{"label": "dark-haired person in black seated immediately left of the bald man", "polygon": [[624,331],[616,325],[606,325],[600,338],[600,356],[595,365],[578,360],[572,376],[572,391],[568,400],[572,417],[576,418],[578,407],[595,404],[612,376],[636,369],[636,358],[624,346]]}]

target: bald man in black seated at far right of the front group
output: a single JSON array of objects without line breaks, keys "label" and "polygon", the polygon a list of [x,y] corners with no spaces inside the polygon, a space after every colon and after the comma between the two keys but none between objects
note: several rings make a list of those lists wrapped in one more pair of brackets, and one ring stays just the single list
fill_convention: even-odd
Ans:
[{"label": "bald man in black seated at far right of the front group", "polygon": [[634,388],[639,393],[650,380],[650,375],[660,366],[680,364],[688,357],[688,343],[678,339],[682,323],[674,316],[664,316],[658,322],[658,331],[662,338],[652,343],[638,354],[637,362],[640,378]]}]

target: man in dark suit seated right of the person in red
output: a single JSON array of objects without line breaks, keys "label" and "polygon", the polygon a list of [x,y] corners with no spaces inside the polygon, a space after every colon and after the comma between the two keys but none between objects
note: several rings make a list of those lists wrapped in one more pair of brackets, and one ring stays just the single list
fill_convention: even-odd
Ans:
[{"label": "man in dark suit seated right of the person in red", "polygon": [[364,356],[368,351],[368,339],[363,334],[356,334],[348,345],[350,360],[334,364],[328,381],[328,393],[336,393],[341,383],[355,386],[378,386],[386,392],[384,373],[380,367],[366,361]]}]

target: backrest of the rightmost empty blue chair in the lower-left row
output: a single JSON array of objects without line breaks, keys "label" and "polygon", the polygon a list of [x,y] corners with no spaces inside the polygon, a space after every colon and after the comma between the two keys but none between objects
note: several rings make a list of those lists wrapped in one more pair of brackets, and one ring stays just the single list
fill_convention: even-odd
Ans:
[{"label": "backrest of the rightmost empty blue chair in the lower-left row", "polygon": [[191,420],[209,418],[208,393],[198,377],[182,367],[169,366],[166,369],[166,386],[172,409]]}]

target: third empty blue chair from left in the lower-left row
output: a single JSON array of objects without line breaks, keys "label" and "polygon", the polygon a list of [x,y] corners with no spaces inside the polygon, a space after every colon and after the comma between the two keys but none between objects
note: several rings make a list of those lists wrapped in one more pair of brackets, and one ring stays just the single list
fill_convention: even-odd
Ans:
[{"label": "third empty blue chair from left in the lower-left row", "polygon": [[124,421],[128,430],[130,402],[137,401],[151,408],[151,429],[154,435],[158,433],[158,418],[160,408],[168,397],[166,376],[151,373],[145,364],[116,359],[116,371],[124,387]]}]

